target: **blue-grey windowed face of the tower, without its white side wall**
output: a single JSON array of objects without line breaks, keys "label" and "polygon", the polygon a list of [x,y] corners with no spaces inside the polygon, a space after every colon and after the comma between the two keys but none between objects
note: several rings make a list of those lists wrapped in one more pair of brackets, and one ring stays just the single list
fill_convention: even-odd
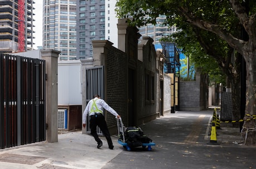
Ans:
[{"label": "blue-grey windowed face of the tower, without its white side wall", "polygon": [[105,0],[77,0],[77,59],[92,57],[92,40],[105,40]]}]

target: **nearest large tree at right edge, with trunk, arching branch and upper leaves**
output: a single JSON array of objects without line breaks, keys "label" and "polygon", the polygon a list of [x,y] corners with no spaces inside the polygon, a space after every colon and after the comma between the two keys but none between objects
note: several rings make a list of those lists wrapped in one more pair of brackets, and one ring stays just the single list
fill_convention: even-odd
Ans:
[{"label": "nearest large tree at right edge, with trunk, arching branch and upper leaves", "polygon": [[[117,15],[131,16],[131,25],[141,26],[147,23],[156,24],[159,15],[166,16],[169,25],[189,24],[199,31],[214,33],[224,40],[231,48],[242,54],[247,71],[246,105],[244,129],[247,130],[246,145],[256,145],[256,2],[253,0],[119,0]],[[249,3],[250,9],[244,7]],[[248,34],[248,40],[240,37],[239,23]],[[236,31],[237,30],[237,31]],[[216,60],[218,62],[218,60]]]}]

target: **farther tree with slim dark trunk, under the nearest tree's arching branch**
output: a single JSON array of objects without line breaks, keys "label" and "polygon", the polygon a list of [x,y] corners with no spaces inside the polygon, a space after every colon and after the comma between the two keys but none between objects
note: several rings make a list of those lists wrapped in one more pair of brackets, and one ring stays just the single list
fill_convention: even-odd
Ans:
[{"label": "farther tree with slim dark trunk, under the nearest tree's arching branch", "polygon": [[[226,79],[223,84],[227,84],[227,88],[232,88],[232,120],[239,121],[240,63],[233,54],[233,48],[215,34],[198,28],[189,28],[188,24],[183,26],[182,32],[175,33],[171,39],[175,39],[186,54],[193,55],[191,61],[197,68],[201,68],[203,73],[208,73],[211,81],[223,83]],[[235,127],[239,125],[239,122],[233,123]]]}]

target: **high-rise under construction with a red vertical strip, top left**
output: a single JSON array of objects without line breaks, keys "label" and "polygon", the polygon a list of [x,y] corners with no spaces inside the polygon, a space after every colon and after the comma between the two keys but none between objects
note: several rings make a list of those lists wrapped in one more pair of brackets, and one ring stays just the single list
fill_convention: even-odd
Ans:
[{"label": "high-rise under construction with a red vertical strip, top left", "polygon": [[33,0],[0,1],[0,52],[33,49]]}]

